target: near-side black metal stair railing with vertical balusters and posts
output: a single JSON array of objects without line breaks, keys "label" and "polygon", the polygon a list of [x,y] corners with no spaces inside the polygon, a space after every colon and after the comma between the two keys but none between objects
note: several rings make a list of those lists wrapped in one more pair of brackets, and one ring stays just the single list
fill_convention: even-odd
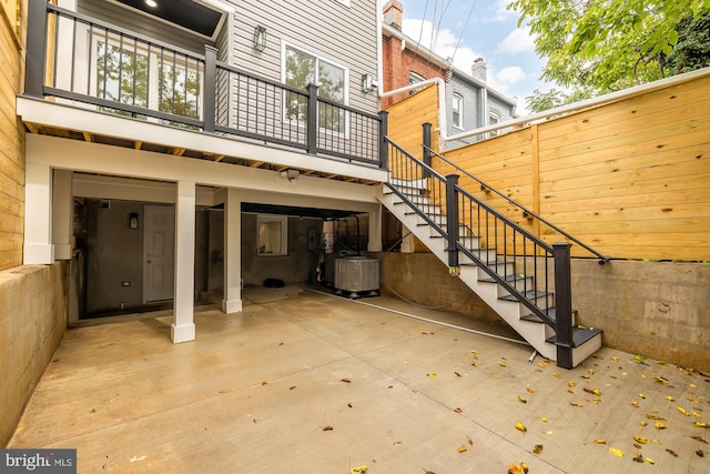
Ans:
[{"label": "near-side black metal stair railing with vertical balusters and posts", "polygon": [[[571,369],[571,244],[544,242],[458,185],[458,174],[443,177],[392,140],[386,142],[387,186],[447,239],[449,270],[459,266],[459,253],[484,270],[555,331],[558,364]],[[406,188],[409,192],[402,191]],[[416,202],[412,191],[428,201]],[[432,214],[435,209],[440,211]],[[462,230],[469,234],[460,235]]]}]

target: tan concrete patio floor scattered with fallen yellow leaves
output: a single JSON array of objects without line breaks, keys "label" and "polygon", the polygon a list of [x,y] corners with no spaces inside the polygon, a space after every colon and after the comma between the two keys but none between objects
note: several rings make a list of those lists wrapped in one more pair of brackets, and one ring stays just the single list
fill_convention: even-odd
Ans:
[{"label": "tan concrete patio floor scattered with fallen yellow leaves", "polygon": [[190,343],[170,342],[170,312],[68,330],[8,447],[77,448],[80,473],[710,472],[707,374],[606,347],[529,363],[374,305],[503,327],[388,296],[244,297],[197,312]]}]

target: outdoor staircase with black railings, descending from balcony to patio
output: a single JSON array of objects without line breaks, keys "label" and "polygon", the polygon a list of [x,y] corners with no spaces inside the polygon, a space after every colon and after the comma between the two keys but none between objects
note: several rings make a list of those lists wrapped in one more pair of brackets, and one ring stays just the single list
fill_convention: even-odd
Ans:
[{"label": "outdoor staircase with black railings, descending from balcony to patio", "polygon": [[[556,360],[561,367],[578,365],[600,347],[600,329],[575,323],[571,243],[544,242],[463,189],[458,174],[444,177],[436,172],[427,164],[436,154],[428,147],[424,149],[425,160],[419,160],[388,138],[385,145],[390,175],[381,201],[448,265],[453,275],[465,281],[538,353]],[[526,216],[542,220],[515,204]],[[600,263],[608,260],[552,228],[566,240],[588,249]]]}]

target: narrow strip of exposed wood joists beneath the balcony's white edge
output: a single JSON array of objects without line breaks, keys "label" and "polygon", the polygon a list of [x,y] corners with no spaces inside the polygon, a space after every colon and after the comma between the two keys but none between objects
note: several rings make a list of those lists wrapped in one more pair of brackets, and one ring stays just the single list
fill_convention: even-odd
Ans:
[{"label": "narrow strip of exposed wood joists beneath the balcony's white edge", "polygon": [[[194,143],[194,140],[191,140],[193,145],[185,147],[182,143],[170,145],[170,144],[161,143],[158,141],[146,141],[143,139],[132,138],[128,134],[124,134],[123,137],[116,137],[116,135],[110,134],[108,131],[102,132],[102,131],[87,130],[81,128],[70,128],[70,127],[62,127],[58,124],[41,123],[37,121],[23,120],[23,124],[28,133],[36,133],[41,135],[57,137],[62,139],[78,140],[78,141],[99,143],[99,144],[104,144],[110,147],[118,147],[118,148],[125,148],[125,149],[133,149],[133,150],[143,150],[143,151],[169,154],[174,157],[192,158],[195,160],[207,160],[213,162],[234,164],[237,167],[246,167],[246,168],[262,169],[262,170],[276,171],[276,172],[294,169],[294,170],[298,170],[300,174],[304,177],[322,178],[326,180],[343,181],[343,182],[349,182],[355,184],[376,185],[382,183],[382,181],[379,180],[362,177],[362,173],[358,171],[367,170],[366,167],[351,165],[349,168],[352,168],[352,170],[355,172],[354,174],[348,174],[337,170],[324,169],[327,167],[316,168],[315,165],[324,164],[324,163],[327,163],[328,161],[329,162],[333,161],[325,158],[321,159],[320,157],[312,157],[312,159],[307,160],[308,163],[313,164],[314,167],[306,168],[303,165],[295,165],[292,163],[278,163],[276,162],[276,160],[272,162],[264,159],[251,159],[244,155],[237,155],[236,153],[227,154],[227,153],[217,152],[217,151],[211,150],[210,147],[206,144],[206,141],[207,141],[206,135],[205,135],[204,147],[201,147],[202,143]],[[145,124],[145,127],[150,127],[150,125],[151,124]],[[154,127],[159,127],[159,125],[154,125]],[[165,134],[156,133],[154,134],[154,137],[160,140],[160,139],[164,139]],[[210,137],[210,138],[214,138],[214,137]],[[254,141],[245,140],[244,142],[242,142],[233,138],[230,138],[230,139],[219,138],[219,139],[224,140],[226,142],[231,142],[231,143],[254,144]],[[265,142],[261,142],[258,143],[258,145],[273,150],[274,157],[277,157],[280,152],[284,151],[283,147],[268,144]],[[235,152],[239,152],[241,150],[239,147],[232,147],[232,149]],[[294,153],[291,150],[288,150],[288,152]],[[297,152],[296,154],[306,155],[305,153],[297,153]],[[306,155],[306,157],[311,157],[311,155]],[[338,168],[343,169],[343,167],[338,167]]]}]

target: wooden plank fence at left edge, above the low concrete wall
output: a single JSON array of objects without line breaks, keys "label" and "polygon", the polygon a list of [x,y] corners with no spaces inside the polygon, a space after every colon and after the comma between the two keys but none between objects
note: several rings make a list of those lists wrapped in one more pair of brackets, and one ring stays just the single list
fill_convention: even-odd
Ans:
[{"label": "wooden plank fence at left edge, above the low concrete wall", "polygon": [[[20,11],[27,11],[27,2],[21,4]],[[24,21],[18,31],[14,6],[3,2],[6,8],[0,11],[0,270],[22,264],[24,233],[24,128],[14,112],[23,62],[18,44]]]}]

